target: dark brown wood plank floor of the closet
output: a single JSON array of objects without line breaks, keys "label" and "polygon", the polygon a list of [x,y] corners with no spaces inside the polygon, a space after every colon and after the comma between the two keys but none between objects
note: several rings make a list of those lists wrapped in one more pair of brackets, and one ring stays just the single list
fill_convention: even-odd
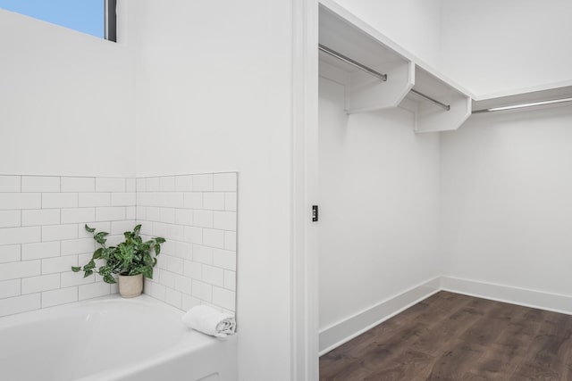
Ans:
[{"label": "dark brown wood plank floor of the closet", "polygon": [[320,358],[321,380],[572,380],[572,316],[440,292]]}]

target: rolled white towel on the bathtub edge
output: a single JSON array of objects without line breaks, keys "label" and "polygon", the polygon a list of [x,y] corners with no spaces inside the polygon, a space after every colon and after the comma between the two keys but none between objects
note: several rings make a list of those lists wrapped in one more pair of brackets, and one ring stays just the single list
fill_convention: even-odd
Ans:
[{"label": "rolled white towel on the bathtub edge", "polygon": [[216,311],[206,305],[191,308],[182,316],[182,322],[187,327],[216,337],[233,335],[236,329],[236,321],[233,316]]}]

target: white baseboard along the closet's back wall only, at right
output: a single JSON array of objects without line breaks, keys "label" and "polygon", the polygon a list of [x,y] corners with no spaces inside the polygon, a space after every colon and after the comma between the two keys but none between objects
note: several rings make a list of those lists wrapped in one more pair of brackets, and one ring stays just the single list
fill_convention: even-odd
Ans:
[{"label": "white baseboard along the closet's back wall only, at right", "polygon": [[458,277],[441,277],[441,288],[497,302],[508,302],[546,311],[572,314],[572,296],[544,293],[527,288],[495,285]]}]

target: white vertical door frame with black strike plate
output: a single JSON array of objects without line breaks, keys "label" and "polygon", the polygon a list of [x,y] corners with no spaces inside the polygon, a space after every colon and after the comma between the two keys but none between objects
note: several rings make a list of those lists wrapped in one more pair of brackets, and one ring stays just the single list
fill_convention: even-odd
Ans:
[{"label": "white vertical door frame with black strike plate", "polygon": [[292,0],[291,369],[318,379],[318,0]]}]

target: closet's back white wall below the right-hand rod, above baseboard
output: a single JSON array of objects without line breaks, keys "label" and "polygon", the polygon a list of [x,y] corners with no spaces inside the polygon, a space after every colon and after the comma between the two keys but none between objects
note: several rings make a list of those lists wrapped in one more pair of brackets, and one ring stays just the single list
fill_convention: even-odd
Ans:
[{"label": "closet's back white wall below the right-hand rod, above baseboard", "polygon": [[445,274],[572,295],[572,108],[442,134]]}]

